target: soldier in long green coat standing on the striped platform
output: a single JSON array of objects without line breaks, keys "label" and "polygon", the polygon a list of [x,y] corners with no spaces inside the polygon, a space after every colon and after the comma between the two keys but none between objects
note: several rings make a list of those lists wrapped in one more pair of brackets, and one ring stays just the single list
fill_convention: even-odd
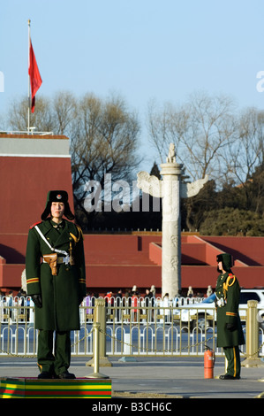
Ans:
[{"label": "soldier in long green coat standing on the striped platform", "polygon": [[70,334],[79,329],[86,271],[83,235],[79,226],[70,221],[73,219],[67,192],[51,190],[42,221],[28,232],[26,287],[27,295],[34,301],[35,327],[39,329],[39,378],[75,378],[68,372]]}]

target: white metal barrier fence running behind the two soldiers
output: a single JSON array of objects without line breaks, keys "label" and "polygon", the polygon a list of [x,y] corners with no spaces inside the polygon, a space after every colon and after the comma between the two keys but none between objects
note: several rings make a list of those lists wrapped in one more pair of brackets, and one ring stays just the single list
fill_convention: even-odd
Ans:
[{"label": "white metal barrier fence running behind the two soldiers", "polygon": [[[105,342],[108,356],[201,356],[205,345],[217,349],[214,305],[200,307],[200,299],[177,298],[164,304],[155,299],[105,298]],[[94,298],[79,307],[81,327],[72,331],[72,355],[93,356]],[[245,316],[245,310],[240,311]],[[245,330],[245,327],[244,327]],[[260,351],[264,335],[260,327]],[[0,298],[0,355],[35,357],[37,330],[30,297]],[[241,347],[245,352],[245,346]]]}]

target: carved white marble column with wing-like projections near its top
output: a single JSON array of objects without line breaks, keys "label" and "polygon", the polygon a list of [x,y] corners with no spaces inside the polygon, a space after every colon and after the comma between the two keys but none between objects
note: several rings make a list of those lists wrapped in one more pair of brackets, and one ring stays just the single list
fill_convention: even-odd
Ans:
[{"label": "carved white marble column with wing-like projections near its top", "polygon": [[181,289],[180,200],[197,195],[208,176],[192,183],[182,183],[182,165],[176,163],[173,143],[170,143],[167,163],[163,163],[161,168],[162,181],[141,171],[137,186],[149,195],[162,198],[162,297],[169,293],[172,299]]}]

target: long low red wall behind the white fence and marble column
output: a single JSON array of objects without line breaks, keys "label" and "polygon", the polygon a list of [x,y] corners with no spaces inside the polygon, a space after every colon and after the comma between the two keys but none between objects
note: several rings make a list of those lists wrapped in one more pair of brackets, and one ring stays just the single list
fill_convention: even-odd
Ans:
[{"label": "long low red wall behind the white fence and marble column", "polygon": [[[0,255],[4,250],[6,253],[6,264],[5,259],[0,258],[0,288],[19,289],[21,273],[25,268],[26,238],[27,233],[23,235],[0,234]],[[162,266],[161,262],[156,262],[156,260],[161,258],[161,239],[161,235],[85,235],[87,289],[104,294],[108,290],[116,292],[119,288],[132,289],[132,286],[136,284],[144,293],[145,288],[154,284],[159,291],[162,285]],[[237,246],[235,240],[232,242]],[[155,247],[155,243],[158,243],[157,253],[151,258],[151,248]],[[215,243],[219,245],[223,241],[220,240],[219,243],[219,240],[215,239]],[[243,250],[239,256],[245,257],[244,250],[248,250],[248,245],[251,243],[254,246],[255,242],[252,242],[252,237],[245,237],[239,243]],[[258,245],[255,246],[254,257],[261,257],[263,244],[264,238],[259,238]],[[182,246],[185,250],[187,243],[183,243]],[[185,290],[188,286],[192,286],[194,290],[205,293],[208,285],[215,287],[218,275],[215,252],[219,252],[219,249],[215,249],[215,246],[211,246],[210,243],[208,247],[214,249],[212,264],[192,266],[197,258],[198,246],[207,247],[207,243],[198,243],[196,247],[191,243],[190,247],[195,250],[195,257],[189,265],[181,267],[182,288]],[[186,252],[190,258],[191,250],[188,249]],[[21,258],[23,261],[20,261]],[[205,258],[202,257],[200,260],[203,262]],[[263,266],[234,266],[233,272],[238,276],[241,287],[263,286]]]}]

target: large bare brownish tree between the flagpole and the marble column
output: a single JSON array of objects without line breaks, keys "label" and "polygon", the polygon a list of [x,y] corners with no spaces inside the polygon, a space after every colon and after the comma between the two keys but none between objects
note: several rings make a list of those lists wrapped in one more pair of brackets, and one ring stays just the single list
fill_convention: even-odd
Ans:
[{"label": "large bare brownish tree between the flagpole and the marble column", "polygon": [[[111,179],[129,180],[140,164],[137,155],[140,123],[124,100],[112,96],[102,100],[86,94],[79,101],[72,136],[72,178],[75,203],[88,218],[83,205],[87,182],[97,181],[104,189],[107,173]],[[93,215],[96,212],[93,212]]]}]

